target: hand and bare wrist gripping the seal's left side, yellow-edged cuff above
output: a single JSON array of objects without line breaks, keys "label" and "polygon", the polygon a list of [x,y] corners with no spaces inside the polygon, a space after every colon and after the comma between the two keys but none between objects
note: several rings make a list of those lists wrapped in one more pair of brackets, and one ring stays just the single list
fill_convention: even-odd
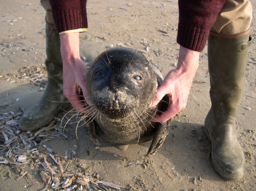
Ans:
[{"label": "hand and bare wrist gripping the seal's left side, yellow-edged cuff above", "polygon": [[84,100],[89,104],[85,86],[87,69],[79,54],[79,32],[61,34],[60,51],[63,60],[63,94],[78,112],[85,113],[84,103],[78,94],[81,87]]}]

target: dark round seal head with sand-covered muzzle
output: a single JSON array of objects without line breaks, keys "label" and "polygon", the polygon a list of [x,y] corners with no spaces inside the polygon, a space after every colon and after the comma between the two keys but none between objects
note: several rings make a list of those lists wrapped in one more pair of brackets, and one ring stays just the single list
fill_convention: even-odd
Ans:
[{"label": "dark round seal head with sand-covered muzzle", "polygon": [[121,118],[138,108],[148,108],[157,90],[157,78],[140,52],[111,48],[92,63],[86,86],[95,108],[111,118]]}]

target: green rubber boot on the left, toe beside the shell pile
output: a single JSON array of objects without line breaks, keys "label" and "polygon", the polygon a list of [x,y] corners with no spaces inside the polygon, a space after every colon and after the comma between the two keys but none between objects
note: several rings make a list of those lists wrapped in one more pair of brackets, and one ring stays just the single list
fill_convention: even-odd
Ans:
[{"label": "green rubber boot on the left, toe beside the shell pile", "polygon": [[27,109],[20,118],[19,128],[26,131],[46,126],[53,117],[71,104],[63,95],[63,63],[60,54],[60,35],[46,25],[46,70],[48,85],[41,100]]}]

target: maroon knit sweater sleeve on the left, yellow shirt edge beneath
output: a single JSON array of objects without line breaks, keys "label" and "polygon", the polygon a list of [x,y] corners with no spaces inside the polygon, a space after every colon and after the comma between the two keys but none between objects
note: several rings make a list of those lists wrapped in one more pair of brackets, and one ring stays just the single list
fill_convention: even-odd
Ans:
[{"label": "maroon knit sweater sleeve on the left, yellow shirt edge beneath", "polygon": [[58,33],[87,28],[86,0],[49,0]]}]

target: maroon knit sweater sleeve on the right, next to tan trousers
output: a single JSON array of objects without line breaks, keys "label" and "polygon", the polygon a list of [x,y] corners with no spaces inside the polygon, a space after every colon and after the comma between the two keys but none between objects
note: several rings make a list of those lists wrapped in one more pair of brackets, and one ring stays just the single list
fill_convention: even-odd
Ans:
[{"label": "maroon knit sweater sleeve on the right, next to tan trousers", "polygon": [[202,52],[225,0],[179,0],[177,43]]}]

